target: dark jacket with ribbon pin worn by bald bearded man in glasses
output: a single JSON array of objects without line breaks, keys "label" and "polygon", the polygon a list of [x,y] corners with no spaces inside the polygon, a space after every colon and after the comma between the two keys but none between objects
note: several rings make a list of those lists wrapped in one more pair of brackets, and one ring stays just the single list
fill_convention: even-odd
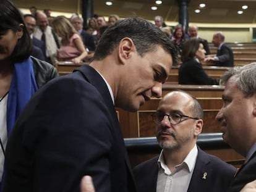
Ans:
[{"label": "dark jacket with ribbon pin worn by bald bearded man in glasses", "polygon": [[[134,177],[138,191],[155,192],[158,177],[158,157],[154,157],[134,168]],[[207,179],[203,179],[203,173],[207,172]],[[211,156],[198,148],[197,161],[192,178],[189,183],[190,192],[226,192],[233,180],[236,168],[218,157]]]}]

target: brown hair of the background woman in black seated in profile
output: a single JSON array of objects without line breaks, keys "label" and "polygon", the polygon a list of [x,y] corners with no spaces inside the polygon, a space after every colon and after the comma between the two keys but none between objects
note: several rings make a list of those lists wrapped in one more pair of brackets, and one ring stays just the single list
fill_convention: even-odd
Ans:
[{"label": "brown hair of the background woman in black seated in profile", "polygon": [[184,62],[194,59],[200,43],[202,43],[202,41],[197,38],[186,40],[182,46],[181,61]]}]

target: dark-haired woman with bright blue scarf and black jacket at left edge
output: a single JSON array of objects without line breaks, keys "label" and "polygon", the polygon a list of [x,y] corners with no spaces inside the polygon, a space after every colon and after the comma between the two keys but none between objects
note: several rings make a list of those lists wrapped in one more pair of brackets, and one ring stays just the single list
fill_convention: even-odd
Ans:
[{"label": "dark-haired woman with bright blue scarf and black jacket at left edge", "polygon": [[[0,4],[0,181],[9,135],[28,100],[49,80],[58,77],[53,65],[30,56],[32,41],[19,9],[11,1]],[[1,190],[2,191],[2,190]]]}]

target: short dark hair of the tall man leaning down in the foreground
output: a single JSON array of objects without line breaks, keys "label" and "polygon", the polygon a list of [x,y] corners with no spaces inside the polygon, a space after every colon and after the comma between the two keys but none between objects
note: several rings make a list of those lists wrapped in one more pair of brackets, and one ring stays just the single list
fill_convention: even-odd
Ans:
[{"label": "short dark hair of the tall man leaning down in the foreground", "polygon": [[176,61],[176,49],[169,38],[156,25],[139,17],[118,20],[109,26],[98,42],[93,59],[104,59],[126,37],[134,42],[140,56],[155,51],[156,45],[159,45],[171,54],[173,61]]}]

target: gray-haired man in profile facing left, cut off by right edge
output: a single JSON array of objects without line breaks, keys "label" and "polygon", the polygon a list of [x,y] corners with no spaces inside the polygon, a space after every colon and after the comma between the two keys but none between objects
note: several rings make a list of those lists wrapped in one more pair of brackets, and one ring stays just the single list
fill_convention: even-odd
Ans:
[{"label": "gray-haired man in profile facing left, cut off by right edge", "polygon": [[216,115],[223,139],[245,157],[228,192],[240,191],[256,179],[256,63],[224,73],[223,107]]}]

